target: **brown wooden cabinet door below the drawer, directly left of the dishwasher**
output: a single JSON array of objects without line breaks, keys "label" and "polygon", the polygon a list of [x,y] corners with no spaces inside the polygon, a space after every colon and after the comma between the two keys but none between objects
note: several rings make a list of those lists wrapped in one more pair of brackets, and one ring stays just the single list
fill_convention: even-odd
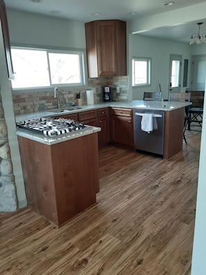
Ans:
[{"label": "brown wooden cabinet door below the drawer, directly left of the dishwasher", "polygon": [[133,147],[132,117],[111,116],[110,138],[112,142]]}]

